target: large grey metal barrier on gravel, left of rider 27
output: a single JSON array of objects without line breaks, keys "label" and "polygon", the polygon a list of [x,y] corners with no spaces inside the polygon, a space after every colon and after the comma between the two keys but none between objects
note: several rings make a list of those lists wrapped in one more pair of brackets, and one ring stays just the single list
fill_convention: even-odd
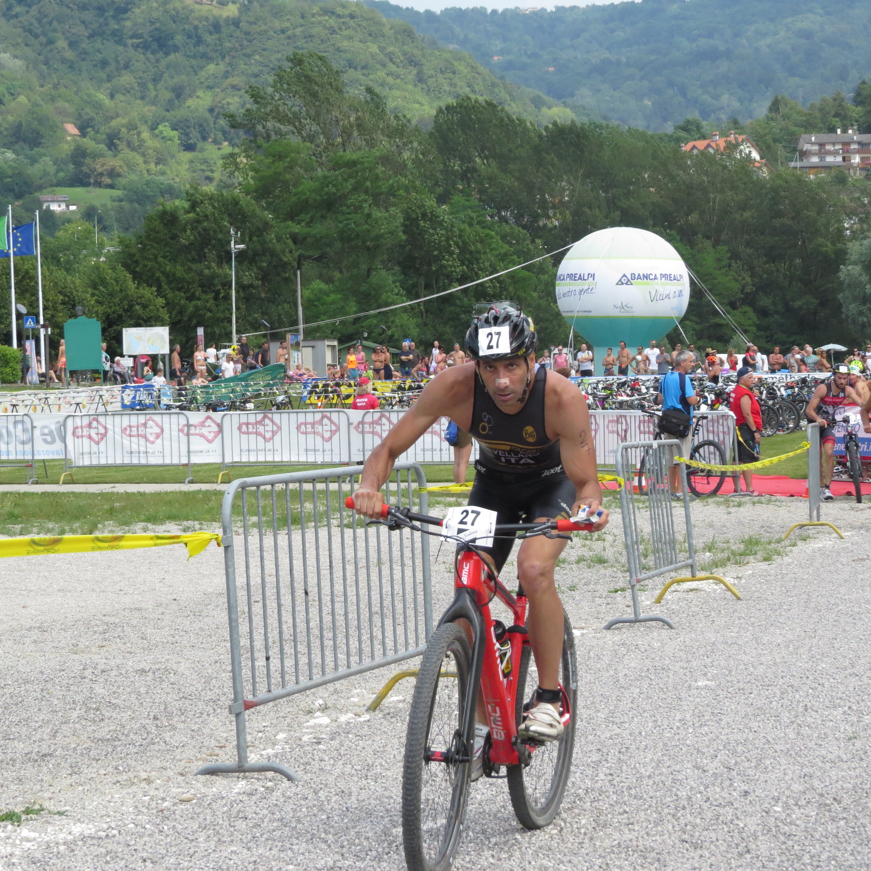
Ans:
[{"label": "large grey metal barrier on gravel, left of rider 27", "polygon": [[[271,771],[298,780],[278,762],[248,760],[246,711],[426,649],[429,538],[368,525],[345,508],[359,474],[268,475],[226,489],[221,523],[238,761],[198,774]],[[427,513],[424,487],[418,464],[397,464],[385,497]]]}]

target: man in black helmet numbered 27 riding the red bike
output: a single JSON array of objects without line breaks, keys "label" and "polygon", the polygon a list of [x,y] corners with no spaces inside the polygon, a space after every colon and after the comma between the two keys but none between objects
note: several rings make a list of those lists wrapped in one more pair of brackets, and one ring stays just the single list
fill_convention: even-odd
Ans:
[{"label": "man in black helmet numbered 27 riding the red bike", "polygon": [[[544,367],[536,371],[537,335],[517,303],[476,308],[466,334],[471,362],[446,369],[423,389],[363,466],[354,508],[381,517],[381,486],[397,456],[440,417],[449,416],[476,439],[479,458],[469,505],[497,512],[497,523],[531,523],[574,517],[582,506],[595,515],[601,500],[590,415],[581,391]],[[604,511],[593,530],[608,523]],[[536,705],[524,715],[520,734],[556,740],[560,719],[559,664],[563,604],[554,569],[567,537],[533,537],[517,553],[517,579],[529,599],[530,645],[538,670]],[[514,542],[496,538],[482,548],[500,571]],[[486,715],[479,699],[478,719]],[[479,738],[483,737],[477,731]],[[476,739],[476,752],[483,741]]]}]

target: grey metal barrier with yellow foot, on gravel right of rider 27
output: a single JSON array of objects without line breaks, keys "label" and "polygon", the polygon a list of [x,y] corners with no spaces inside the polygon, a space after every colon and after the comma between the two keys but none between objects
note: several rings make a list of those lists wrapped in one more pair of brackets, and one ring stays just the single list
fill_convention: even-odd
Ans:
[{"label": "grey metal barrier with yellow foot, on gravel right of rider 27", "polygon": [[[638,600],[638,584],[653,577],[672,571],[689,569],[690,574],[672,577],[659,591],[655,601],[661,602],[666,591],[673,584],[688,581],[719,581],[726,589],[740,598],[738,591],[725,578],[719,575],[699,575],[696,571],[696,552],[692,541],[692,517],[690,515],[689,490],[686,483],[686,467],[679,463],[679,479],[683,497],[684,531],[686,555],[679,546],[679,522],[676,523],[668,469],[672,456],[679,456],[680,442],[668,439],[654,442],[628,442],[617,452],[617,474],[627,486],[620,490],[620,513],[623,517],[623,536],[626,544],[626,558],[629,564],[629,589],[632,598],[632,616],[610,620],[605,629],[622,623],[649,623],[658,621],[674,629],[672,621],[655,614],[642,614]],[[633,457],[637,457],[635,460]],[[638,464],[644,459],[645,495],[640,496],[631,486],[638,478]]]}]

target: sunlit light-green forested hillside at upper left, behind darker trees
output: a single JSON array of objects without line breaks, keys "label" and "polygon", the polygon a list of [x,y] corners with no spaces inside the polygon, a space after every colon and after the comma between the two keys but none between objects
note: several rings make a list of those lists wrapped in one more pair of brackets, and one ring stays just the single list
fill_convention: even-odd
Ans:
[{"label": "sunlit light-green forested hillside at upper left, behind darker trees", "polygon": [[[320,51],[349,91],[371,87],[413,123],[466,94],[541,123],[571,117],[360,3],[0,0],[0,199],[110,188],[118,194],[101,219],[113,232],[132,229],[160,197],[215,182],[241,136],[225,113],[300,49]],[[35,206],[31,196],[19,211]]]}]

